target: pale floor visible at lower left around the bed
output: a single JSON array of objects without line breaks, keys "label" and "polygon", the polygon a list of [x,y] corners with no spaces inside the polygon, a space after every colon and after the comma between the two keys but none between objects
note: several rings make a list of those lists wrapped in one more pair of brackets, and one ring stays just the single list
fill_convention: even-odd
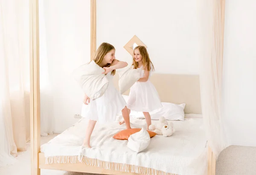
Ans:
[{"label": "pale floor visible at lower left around the bed", "polygon": [[[47,143],[57,134],[41,137],[41,144]],[[27,143],[28,150],[25,152],[18,152],[17,162],[14,165],[9,165],[0,168],[0,175],[30,175],[30,144]],[[89,175],[87,173],[66,172],[58,170],[41,169],[41,175]]]}]

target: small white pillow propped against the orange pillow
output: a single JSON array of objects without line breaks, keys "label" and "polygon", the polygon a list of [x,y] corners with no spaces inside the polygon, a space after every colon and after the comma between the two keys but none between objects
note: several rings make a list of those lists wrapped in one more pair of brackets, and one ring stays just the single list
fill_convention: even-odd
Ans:
[{"label": "small white pillow propped against the orange pillow", "polygon": [[139,132],[130,135],[127,147],[134,152],[141,152],[148,147],[149,143],[150,136],[148,131],[142,128]]}]

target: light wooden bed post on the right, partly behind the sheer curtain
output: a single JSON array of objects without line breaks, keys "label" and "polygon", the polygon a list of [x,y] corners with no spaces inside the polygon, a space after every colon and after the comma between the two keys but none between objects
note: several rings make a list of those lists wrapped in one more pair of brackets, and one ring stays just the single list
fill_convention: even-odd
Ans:
[{"label": "light wooden bed post on the right, partly behind the sheer curtain", "polygon": [[[223,51],[224,51],[224,21],[225,21],[225,0],[220,0],[221,3],[221,72],[223,67]],[[222,73],[221,73],[222,74]],[[221,83],[221,82],[219,82]],[[216,158],[212,149],[208,150],[208,175],[216,174]]]}]

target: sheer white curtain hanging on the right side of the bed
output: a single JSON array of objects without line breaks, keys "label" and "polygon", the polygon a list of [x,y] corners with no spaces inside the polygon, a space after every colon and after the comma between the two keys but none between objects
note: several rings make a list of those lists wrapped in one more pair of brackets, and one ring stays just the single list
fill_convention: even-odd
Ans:
[{"label": "sheer white curtain hanging on the right side of the bed", "polygon": [[199,0],[202,36],[201,103],[209,146],[216,158],[227,147],[221,116],[222,24],[221,0]]}]

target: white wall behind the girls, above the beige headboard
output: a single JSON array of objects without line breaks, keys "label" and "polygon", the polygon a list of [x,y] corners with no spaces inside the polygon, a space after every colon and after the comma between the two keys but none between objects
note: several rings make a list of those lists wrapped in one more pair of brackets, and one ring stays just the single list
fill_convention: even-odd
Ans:
[{"label": "white wall behind the girls, above the beige headboard", "polygon": [[134,36],[148,47],[157,73],[199,74],[196,0],[97,0],[97,47],[109,42],[131,64],[123,46]]}]

